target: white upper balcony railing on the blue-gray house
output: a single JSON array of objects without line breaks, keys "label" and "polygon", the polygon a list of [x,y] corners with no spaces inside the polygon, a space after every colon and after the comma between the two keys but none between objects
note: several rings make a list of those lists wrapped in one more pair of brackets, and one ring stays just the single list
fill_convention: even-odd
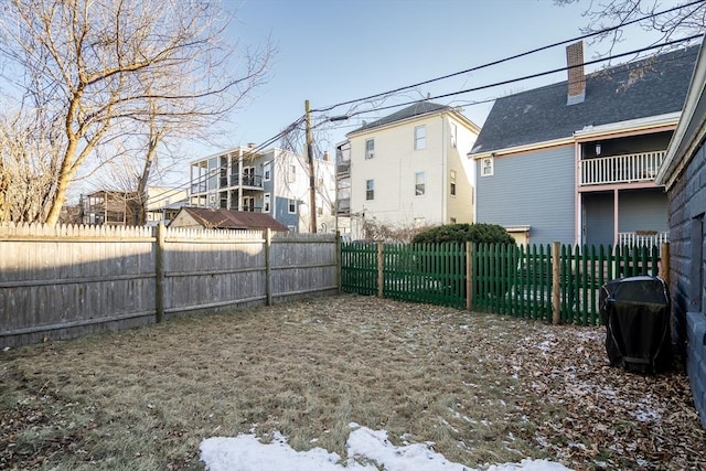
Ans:
[{"label": "white upper balcony railing on the blue-gray house", "polygon": [[665,154],[659,150],[581,160],[579,184],[652,182]]}]

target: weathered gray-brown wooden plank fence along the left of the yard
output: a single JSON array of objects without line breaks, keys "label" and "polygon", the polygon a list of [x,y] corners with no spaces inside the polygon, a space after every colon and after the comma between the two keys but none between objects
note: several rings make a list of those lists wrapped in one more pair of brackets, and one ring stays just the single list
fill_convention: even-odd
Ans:
[{"label": "weathered gray-brown wooden plank fence along the left of the yard", "polygon": [[339,286],[333,235],[0,225],[0,347]]}]

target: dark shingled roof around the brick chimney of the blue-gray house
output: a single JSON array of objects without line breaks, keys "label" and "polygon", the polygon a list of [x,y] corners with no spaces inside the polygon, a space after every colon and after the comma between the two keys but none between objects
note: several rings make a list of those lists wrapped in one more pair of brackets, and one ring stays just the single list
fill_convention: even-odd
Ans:
[{"label": "dark shingled roof around the brick chimney of the blue-gray house", "polygon": [[600,126],[682,110],[698,46],[586,76],[586,99],[567,105],[568,81],[495,100],[471,153],[569,138]]}]

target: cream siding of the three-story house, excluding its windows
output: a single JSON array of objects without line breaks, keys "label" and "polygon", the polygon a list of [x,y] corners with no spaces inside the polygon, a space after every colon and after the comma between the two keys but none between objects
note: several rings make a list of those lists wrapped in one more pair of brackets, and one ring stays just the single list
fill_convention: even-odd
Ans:
[{"label": "cream siding of the three-story house, excluding its windows", "polygon": [[[456,148],[451,146],[456,125]],[[426,126],[426,146],[415,149],[415,128]],[[366,222],[392,227],[473,222],[473,162],[466,158],[475,140],[468,122],[451,113],[419,116],[349,135],[351,146],[351,232],[362,238]],[[374,139],[374,157],[365,158]],[[450,171],[457,194],[450,195]],[[470,173],[469,173],[470,172]],[[425,194],[415,193],[416,173],[425,174]],[[374,199],[366,199],[366,181]]]}]

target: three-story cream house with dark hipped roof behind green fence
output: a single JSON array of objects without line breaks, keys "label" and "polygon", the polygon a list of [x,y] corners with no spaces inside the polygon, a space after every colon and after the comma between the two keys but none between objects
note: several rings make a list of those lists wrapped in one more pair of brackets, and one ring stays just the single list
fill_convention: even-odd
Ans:
[{"label": "three-story cream house with dark hipped roof behind green fence", "polygon": [[391,228],[472,223],[480,128],[459,109],[421,101],[349,132],[336,149],[338,226],[351,238]]}]

